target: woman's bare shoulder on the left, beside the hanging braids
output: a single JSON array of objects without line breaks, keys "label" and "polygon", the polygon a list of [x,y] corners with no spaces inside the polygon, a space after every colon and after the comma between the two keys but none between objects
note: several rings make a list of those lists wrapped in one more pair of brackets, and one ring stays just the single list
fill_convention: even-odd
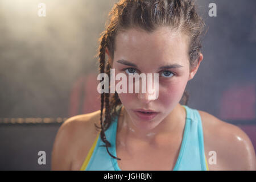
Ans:
[{"label": "woman's bare shoulder on the left, beside the hanging braids", "polygon": [[97,110],[75,115],[60,126],[53,143],[52,170],[71,170],[76,160],[83,160],[80,156],[84,157],[96,138],[98,131],[95,124],[100,126],[100,113],[100,110]]}]

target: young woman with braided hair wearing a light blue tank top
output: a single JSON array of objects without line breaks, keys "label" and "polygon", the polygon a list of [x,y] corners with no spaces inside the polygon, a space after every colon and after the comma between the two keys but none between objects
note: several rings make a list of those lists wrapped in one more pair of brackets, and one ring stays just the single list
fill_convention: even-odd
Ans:
[{"label": "young woman with braided hair wearing a light blue tank top", "polygon": [[52,169],[254,170],[254,148],[241,129],[180,104],[203,60],[204,22],[195,3],[122,0],[109,15],[100,73],[159,73],[158,98],[102,93],[101,110],[61,125]]}]

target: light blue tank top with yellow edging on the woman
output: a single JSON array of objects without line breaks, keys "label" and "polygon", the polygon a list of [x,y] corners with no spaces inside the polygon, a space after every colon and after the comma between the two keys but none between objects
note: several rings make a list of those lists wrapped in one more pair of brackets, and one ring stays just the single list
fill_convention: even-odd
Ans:
[{"label": "light blue tank top with yellow edging on the woman", "polygon": [[[196,109],[191,109],[185,105],[182,106],[184,106],[186,110],[186,122],[174,171],[208,170],[208,164],[204,154],[204,137],[200,114]],[[121,107],[119,107],[119,111],[120,110]],[[109,129],[105,131],[106,139],[108,139],[112,145],[112,147],[108,147],[109,152],[116,157],[118,157],[115,150],[117,121],[118,116],[113,119]],[[101,147],[101,145],[105,145],[105,143],[102,142],[98,134],[80,170],[121,171],[118,167],[117,159],[112,158],[106,151],[106,147]]]}]

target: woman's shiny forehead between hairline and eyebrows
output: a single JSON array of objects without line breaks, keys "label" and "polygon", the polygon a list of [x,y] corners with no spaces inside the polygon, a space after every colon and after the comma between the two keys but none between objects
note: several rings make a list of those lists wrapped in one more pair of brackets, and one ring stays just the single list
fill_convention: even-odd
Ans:
[{"label": "woman's shiny forehead between hairline and eyebrows", "polygon": [[152,33],[132,28],[117,34],[114,59],[181,62],[188,59],[188,39],[185,34],[165,27]]}]

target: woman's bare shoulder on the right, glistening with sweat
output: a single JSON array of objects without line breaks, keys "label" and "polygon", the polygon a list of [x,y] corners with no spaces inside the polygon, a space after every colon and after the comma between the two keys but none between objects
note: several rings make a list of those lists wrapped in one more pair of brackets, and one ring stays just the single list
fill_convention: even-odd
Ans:
[{"label": "woman's bare shoulder on the right, glistening with sweat", "polygon": [[[236,125],[198,111],[209,170],[255,170],[255,151],[247,134]],[[210,163],[212,154],[216,155],[216,163]]]}]

